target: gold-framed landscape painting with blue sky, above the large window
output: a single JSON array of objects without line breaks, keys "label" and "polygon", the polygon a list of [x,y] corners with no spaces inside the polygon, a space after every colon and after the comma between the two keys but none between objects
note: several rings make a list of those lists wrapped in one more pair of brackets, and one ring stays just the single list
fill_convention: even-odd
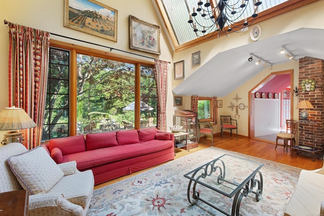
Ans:
[{"label": "gold-framed landscape painting with blue sky, above the large window", "polygon": [[117,41],[117,10],[95,0],[65,0],[64,26]]}]

